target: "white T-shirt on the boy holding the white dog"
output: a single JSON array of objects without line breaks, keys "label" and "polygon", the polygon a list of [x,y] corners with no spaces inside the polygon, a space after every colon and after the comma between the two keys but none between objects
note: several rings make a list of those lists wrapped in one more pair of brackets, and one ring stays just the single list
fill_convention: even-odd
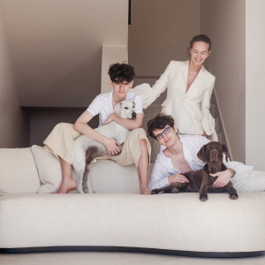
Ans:
[{"label": "white T-shirt on the boy holding the white dog", "polygon": [[[97,95],[95,100],[91,102],[87,110],[93,115],[93,117],[99,114],[99,127],[101,127],[104,122],[110,117],[110,114],[114,113],[112,106],[112,94],[113,90]],[[136,113],[143,113],[142,104],[143,98],[142,95],[129,91],[126,95],[126,100],[132,99],[135,103],[134,110]]]}]

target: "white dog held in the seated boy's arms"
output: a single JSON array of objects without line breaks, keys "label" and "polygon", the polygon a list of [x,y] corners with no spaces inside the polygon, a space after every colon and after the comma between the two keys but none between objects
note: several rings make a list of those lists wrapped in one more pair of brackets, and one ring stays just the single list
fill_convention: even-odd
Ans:
[{"label": "white dog held in the seated boy's arms", "polygon": [[[133,100],[125,100],[117,103],[114,108],[117,116],[123,118],[135,118]],[[117,122],[112,121],[108,125],[96,128],[96,132],[101,133],[103,136],[117,140],[118,144],[123,144],[127,135],[131,132]],[[72,177],[77,182],[77,189],[79,193],[88,193],[87,179],[89,173],[89,165],[86,164],[87,150],[89,149],[89,161],[95,159],[96,156],[108,155],[108,150],[102,145],[101,142],[88,138],[85,135],[80,135],[75,140],[74,148],[72,150]]]}]

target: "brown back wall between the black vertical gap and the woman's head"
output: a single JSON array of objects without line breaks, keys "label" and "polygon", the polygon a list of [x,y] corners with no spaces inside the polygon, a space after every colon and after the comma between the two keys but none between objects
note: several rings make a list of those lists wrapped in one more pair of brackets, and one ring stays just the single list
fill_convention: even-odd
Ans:
[{"label": "brown back wall between the black vertical gap and the woman's head", "polygon": [[159,76],[170,60],[186,60],[186,49],[200,34],[199,0],[133,0],[129,62],[138,76]]}]

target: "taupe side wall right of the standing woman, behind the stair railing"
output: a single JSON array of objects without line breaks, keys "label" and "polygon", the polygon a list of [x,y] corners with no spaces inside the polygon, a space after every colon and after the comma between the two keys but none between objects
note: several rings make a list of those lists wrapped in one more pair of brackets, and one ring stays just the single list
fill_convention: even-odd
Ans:
[{"label": "taupe side wall right of the standing woman, behind the stair railing", "polygon": [[245,163],[246,1],[201,0],[200,3],[200,31],[212,41],[208,66],[216,76],[216,97],[226,139],[233,160]]}]

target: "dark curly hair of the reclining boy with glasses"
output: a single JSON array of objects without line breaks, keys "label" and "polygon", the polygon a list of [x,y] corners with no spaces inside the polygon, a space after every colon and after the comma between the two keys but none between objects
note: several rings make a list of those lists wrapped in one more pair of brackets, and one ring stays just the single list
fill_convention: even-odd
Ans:
[{"label": "dark curly hair of the reclining boy with glasses", "polygon": [[148,136],[155,139],[155,129],[162,130],[166,125],[170,125],[173,128],[175,125],[173,117],[164,113],[158,114],[148,121]]}]

